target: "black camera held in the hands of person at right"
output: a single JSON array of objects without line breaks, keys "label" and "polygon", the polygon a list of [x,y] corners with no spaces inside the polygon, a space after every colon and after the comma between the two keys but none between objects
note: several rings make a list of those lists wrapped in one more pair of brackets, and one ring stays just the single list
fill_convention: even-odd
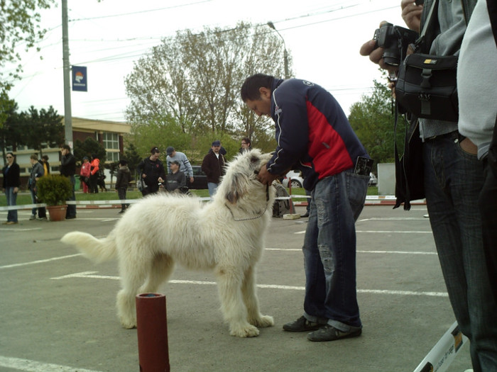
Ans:
[{"label": "black camera held in the hands of person at right", "polygon": [[392,23],[383,23],[374,32],[373,40],[376,40],[376,47],[383,47],[383,60],[391,66],[398,66],[405,58],[408,45],[417,39],[417,32],[393,26]]}]

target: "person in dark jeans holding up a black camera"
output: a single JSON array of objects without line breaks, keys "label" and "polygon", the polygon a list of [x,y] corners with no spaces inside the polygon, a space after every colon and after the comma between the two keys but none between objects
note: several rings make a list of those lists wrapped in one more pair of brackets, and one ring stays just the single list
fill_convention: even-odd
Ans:
[{"label": "person in dark jeans holding up a black camera", "polygon": [[[400,4],[403,20],[408,28],[424,34],[421,50],[433,60],[459,54],[475,5],[476,0],[426,0],[424,5],[402,0]],[[398,72],[398,66],[386,63],[384,52],[376,40],[365,43],[360,50],[382,68]],[[447,118],[412,118],[419,120],[422,140],[424,170],[419,176],[424,178],[430,224],[449,300],[461,332],[471,342],[474,371],[497,371],[497,305],[491,295],[478,210],[483,170],[476,146],[458,131],[457,114],[454,119],[447,111]]]}]

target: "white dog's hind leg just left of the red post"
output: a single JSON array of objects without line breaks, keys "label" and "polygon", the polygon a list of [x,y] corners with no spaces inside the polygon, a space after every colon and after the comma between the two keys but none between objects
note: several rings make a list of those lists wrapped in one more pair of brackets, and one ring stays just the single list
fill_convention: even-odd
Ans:
[{"label": "white dog's hind leg just left of the red post", "polygon": [[[133,244],[136,242],[130,242]],[[140,244],[130,245],[119,257],[122,289],[117,293],[117,314],[124,328],[136,327],[136,295],[151,269],[153,252]]]}]

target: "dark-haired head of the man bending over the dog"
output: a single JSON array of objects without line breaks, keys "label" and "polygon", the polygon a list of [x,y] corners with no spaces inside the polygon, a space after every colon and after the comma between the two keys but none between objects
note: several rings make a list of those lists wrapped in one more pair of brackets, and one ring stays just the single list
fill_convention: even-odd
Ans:
[{"label": "dark-haired head of the man bending over the dog", "polygon": [[271,86],[274,77],[255,74],[248,77],[241,86],[241,99],[258,116],[271,115]]}]

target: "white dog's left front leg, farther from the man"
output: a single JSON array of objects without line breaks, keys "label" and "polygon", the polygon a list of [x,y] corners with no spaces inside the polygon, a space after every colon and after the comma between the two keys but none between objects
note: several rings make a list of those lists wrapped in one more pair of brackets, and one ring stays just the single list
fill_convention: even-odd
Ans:
[{"label": "white dog's left front leg, farther from the man", "polygon": [[216,271],[221,298],[221,310],[229,324],[229,334],[237,337],[256,337],[257,327],[247,322],[247,310],[241,295],[242,274],[236,269],[219,268]]}]

